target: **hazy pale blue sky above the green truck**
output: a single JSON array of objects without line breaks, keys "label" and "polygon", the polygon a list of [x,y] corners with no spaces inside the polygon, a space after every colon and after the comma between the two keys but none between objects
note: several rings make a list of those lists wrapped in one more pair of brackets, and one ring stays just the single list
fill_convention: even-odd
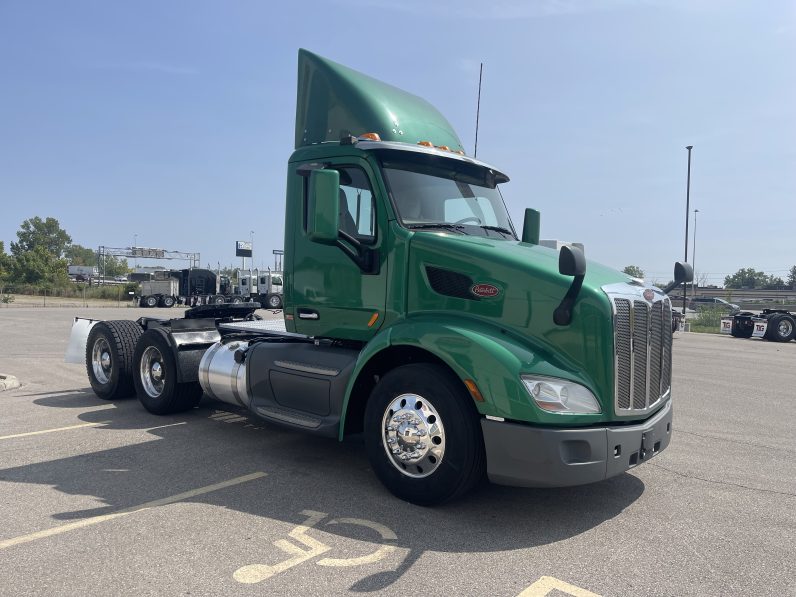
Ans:
[{"label": "hazy pale blue sky above the green truck", "polygon": [[[665,282],[796,264],[796,4],[710,0],[0,0],[0,240],[281,248],[296,55],[423,96],[506,171],[515,226]],[[693,220],[691,224],[693,232]],[[690,236],[690,235],[689,235]],[[689,238],[690,247],[693,239]]]}]

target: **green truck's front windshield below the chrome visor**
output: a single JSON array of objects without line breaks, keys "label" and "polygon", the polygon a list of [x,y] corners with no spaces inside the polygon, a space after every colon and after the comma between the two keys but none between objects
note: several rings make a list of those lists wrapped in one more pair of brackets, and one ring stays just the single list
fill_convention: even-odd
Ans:
[{"label": "green truck's front windshield below the chrome visor", "polygon": [[503,197],[449,168],[417,171],[417,164],[385,164],[383,171],[404,226],[516,238]]}]

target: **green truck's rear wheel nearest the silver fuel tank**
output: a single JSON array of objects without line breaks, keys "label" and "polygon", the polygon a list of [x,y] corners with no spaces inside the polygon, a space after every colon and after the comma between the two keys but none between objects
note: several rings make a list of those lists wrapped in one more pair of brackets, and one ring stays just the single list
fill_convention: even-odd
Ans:
[{"label": "green truck's rear wheel nearest the silver fuel tank", "polygon": [[163,334],[147,330],[133,355],[133,383],[141,404],[155,415],[190,410],[202,399],[198,381],[178,383],[174,352]]}]

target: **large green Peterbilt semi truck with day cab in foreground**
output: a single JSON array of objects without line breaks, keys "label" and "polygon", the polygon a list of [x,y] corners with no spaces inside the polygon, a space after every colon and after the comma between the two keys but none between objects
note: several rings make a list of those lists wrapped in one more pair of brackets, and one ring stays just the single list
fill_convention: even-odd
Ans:
[{"label": "large green Peterbilt semi truck with day cab in foreground", "polygon": [[[302,50],[283,319],[239,304],[77,320],[70,346],[85,343],[98,396],[135,393],[155,414],[204,393],[362,433],[378,478],[417,504],[484,477],[613,477],[669,445],[671,288],[540,246],[534,210],[518,237],[508,182],[425,100]],[[676,283],[691,275],[675,265]]]}]

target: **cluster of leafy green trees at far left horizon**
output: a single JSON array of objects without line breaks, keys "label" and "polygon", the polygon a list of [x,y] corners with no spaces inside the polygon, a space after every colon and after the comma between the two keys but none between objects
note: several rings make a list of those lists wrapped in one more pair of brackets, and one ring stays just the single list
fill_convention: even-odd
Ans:
[{"label": "cluster of leafy green trees at far left horizon", "polygon": [[[0,282],[64,287],[71,284],[68,265],[99,266],[97,252],[72,242],[55,218],[36,216],[22,222],[17,241],[6,253],[0,241]],[[106,276],[119,276],[130,271],[126,259],[105,256]]]}]

